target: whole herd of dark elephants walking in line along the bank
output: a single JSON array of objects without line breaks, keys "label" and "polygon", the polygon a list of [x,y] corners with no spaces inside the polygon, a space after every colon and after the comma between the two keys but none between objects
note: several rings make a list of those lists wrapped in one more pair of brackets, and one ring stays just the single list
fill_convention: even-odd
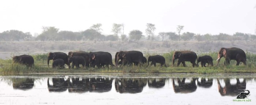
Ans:
[{"label": "whole herd of dark elephants walking in line along the bank", "polygon": [[[225,57],[224,64],[230,64],[230,60],[236,60],[239,65],[240,62],[243,62],[246,65],[246,54],[240,48],[221,48],[218,52],[217,65],[222,57]],[[193,51],[176,51],[172,57],[172,66],[174,65],[175,60],[178,59],[177,66],[182,63],[185,67],[185,61],[189,61],[192,63],[192,66],[198,66],[198,63],[201,62],[201,66],[206,67],[206,63],[208,65],[213,66],[213,59],[211,56],[205,55],[197,58],[197,54]],[[20,55],[14,56],[12,59],[16,63],[25,64],[27,66],[34,65],[34,58],[29,55]],[[68,65],[68,68],[80,68],[79,65],[83,67],[93,67],[95,65],[98,68],[108,67],[110,66],[132,66],[132,65],[142,65],[151,62],[151,65],[156,66],[156,63],[160,63],[161,66],[166,66],[165,58],[160,55],[149,56],[148,59],[143,56],[143,53],[140,51],[119,51],[116,52],[114,57],[115,65],[112,62],[112,55],[109,52],[68,52],[68,54],[64,52],[49,52],[47,65],[49,67],[49,61],[53,60],[52,68],[65,68],[65,64]],[[196,63],[197,60],[197,63]],[[72,63],[72,65],[70,65]]]}]

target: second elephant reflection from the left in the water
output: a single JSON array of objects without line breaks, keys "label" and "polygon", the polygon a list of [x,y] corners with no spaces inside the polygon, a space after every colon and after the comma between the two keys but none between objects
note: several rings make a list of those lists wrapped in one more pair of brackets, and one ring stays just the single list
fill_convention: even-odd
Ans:
[{"label": "second elephant reflection from the left in the water", "polygon": [[52,78],[52,84],[49,83],[49,78],[47,80],[47,86],[49,92],[64,92],[68,89],[68,82],[69,78],[67,80],[63,78]]}]

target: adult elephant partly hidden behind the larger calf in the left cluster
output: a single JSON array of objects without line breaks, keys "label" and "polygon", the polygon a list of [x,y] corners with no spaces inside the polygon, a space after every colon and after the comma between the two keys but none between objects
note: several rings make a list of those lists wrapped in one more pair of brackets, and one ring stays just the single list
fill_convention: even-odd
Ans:
[{"label": "adult elephant partly hidden behind the larger calf in the left cluster", "polygon": [[68,59],[73,56],[82,56],[85,58],[85,64],[89,67],[89,53],[85,51],[78,51],[78,52],[68,52]]}]

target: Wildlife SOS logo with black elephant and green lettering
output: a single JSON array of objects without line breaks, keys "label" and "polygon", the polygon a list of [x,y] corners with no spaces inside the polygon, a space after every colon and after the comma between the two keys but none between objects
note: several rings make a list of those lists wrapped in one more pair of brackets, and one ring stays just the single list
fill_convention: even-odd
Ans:
[{"label": "Wildlife SOS logo with black elephant and green lettering", "polygon": [[233,99],[233,102],[251,102],[252,100],[248,98],[250,95],[250,90],[244,89],[244,92],[241,92],[236,99]]}]

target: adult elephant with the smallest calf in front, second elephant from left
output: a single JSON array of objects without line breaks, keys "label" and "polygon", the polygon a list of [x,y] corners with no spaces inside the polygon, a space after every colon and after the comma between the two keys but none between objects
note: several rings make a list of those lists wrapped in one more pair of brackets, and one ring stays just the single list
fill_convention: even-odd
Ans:
[{"label": "adult elephant with the smallest calf in front, second elephant from left", "polygon": [[49,67],[49,61],[50,60],[56,60],[58,58],[63,59],[65,64],[68,65],[68,68],[70,68],[70,64],[68,62],[68,55],[66,53],[63,53],[63,52],[49,52],[48,59],[47,59],[48,67]]}]

